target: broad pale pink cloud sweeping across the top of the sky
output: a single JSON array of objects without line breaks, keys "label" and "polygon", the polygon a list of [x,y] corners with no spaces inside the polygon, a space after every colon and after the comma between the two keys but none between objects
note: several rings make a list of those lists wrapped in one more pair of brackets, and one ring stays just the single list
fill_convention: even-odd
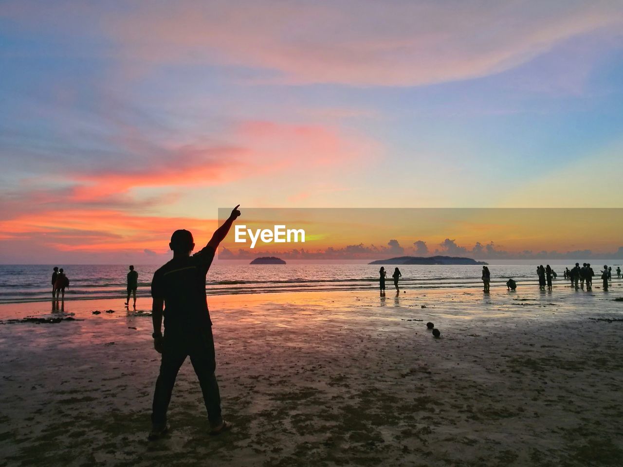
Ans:
[{"label": "broad pale pink cloud sweeping across the top of the sky", "polygon": [[242,65],[275,70],[281,82],[350,85],[480,77],[622,26],[612,1],[180,1],[103,22],[126,65]]}]

